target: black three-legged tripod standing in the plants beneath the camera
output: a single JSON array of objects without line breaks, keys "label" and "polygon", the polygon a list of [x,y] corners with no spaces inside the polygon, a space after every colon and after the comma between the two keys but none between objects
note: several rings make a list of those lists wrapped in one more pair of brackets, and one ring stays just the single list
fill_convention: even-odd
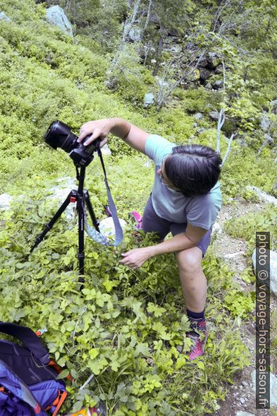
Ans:
[{"label": "black three-legged tripod standing in the plants beneath the camera", "polygon": [[[33,247],[30,250],[30,253],[32,253],[33,250],[35,249],[35,247],[37,247],[38,244],[40,244],[40,242],[42,242],[45,235],[47,235],[47,232],[49,230],[51,230],[54,223],[56,223],[56,221],[59,219],[59,217],[64,212],[66,207],[69,205],[69,203],[77,202],[78,240],[79,240],[77,257],[78,257],[78,260],[79,260],[79,274],[80,275],[83,275],[84,259],[85,259],[84,225],[85,225],[85,209],[86,209],[86,207],[88,208],[88,213],[90,214],[90,218],[93,222],[93,226],[99,232],[99,227],[98,227],[99,222],[95,218],[95,213],[93,211],[93,206],[90,202],[90,196],[88,194],[88,190],[83,189],[83,183],[84,183],[84,180],[85,180],[85,175],[86,175],[86,166],[81,166],[80,172],[78,170],[78,166],[76,166],[76,179],[79,182],[78,191],[76,191],[75,189],[71,189],[71,191],[69,192],[69,195],[66,197],[65,201],[61,204],[61,206],[57,210],[57,213],[55,213],[52,220],[50,220],[49,223],[47,223],[45,225],[45,229],[36,238],[35,244],[33,245]],[[85,281],[85,279],[83,279],[83,277],[80,276],[78,281],[83,283]]]}]

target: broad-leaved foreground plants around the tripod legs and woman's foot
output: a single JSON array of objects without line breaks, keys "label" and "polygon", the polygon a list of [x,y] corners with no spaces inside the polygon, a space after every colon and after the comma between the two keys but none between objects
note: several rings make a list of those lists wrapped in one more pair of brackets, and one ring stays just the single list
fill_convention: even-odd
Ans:
[{"label": "broad-leaved foreground plants around the tripod legs and woman's foot", "polygon": [[[131,225],[120,249],[86,239],[86,283],[80,291],[76,221],[61,218],[26,258],[54,208],[52,200],[43,201],[35,191],[4,215],[1,320],[47,328],[43,338],[49,351],[67,370],[64,376],[70,372],[74,378],[69,406],[102,400],[117,415],[213,413],[225,397],[225,383],[232,383],[234,373],[248,363],[240,322],[233,319],[247,309],[234,310],[226,302],[232,287],[228,269],[212,253],[204,260],[210,335],[205,359],[189,364],[178,350],[189,324],[170,256],[153,258],[138,271],[119,265],[122,250],[137,247],[129,237]],[[145,236],[141,244],[152,241]],[[78,392],[91,373],[93,381]]]}]

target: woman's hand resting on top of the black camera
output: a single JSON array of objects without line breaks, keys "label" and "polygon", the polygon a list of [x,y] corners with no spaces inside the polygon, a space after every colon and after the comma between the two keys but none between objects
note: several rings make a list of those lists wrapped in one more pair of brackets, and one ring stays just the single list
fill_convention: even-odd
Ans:
[{"label": "woman's hand resting on top of the black camera", "polygon": [[100,138],[100,147],[103,147],[107,143],[107,137],[112,130],[112,127],[113,123],[111,118],[88,121],[88,123],[81,125],[78,142],[83,142],[87,137],[83,145],[88,146],[94,140]]}]

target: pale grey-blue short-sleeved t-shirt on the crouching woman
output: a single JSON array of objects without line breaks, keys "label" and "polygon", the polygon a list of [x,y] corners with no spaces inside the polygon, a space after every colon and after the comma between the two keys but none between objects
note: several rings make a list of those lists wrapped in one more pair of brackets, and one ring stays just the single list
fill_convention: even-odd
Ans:
[{"label": "pale grey-blue short-sleeved t-shirt on the crouching woman", "polygon": [[150,135],[146,139],[146,154],[155,162],[155,181],[152,189],[155,213],[172,223],[189,222],[191,225],[209,230],[221,208],[220,183],[217,182],[206,195],[194,196],[194,198],[186,197],[162,184],[157,171],[175,146],[177,146],[175,143],[159,135]]}]

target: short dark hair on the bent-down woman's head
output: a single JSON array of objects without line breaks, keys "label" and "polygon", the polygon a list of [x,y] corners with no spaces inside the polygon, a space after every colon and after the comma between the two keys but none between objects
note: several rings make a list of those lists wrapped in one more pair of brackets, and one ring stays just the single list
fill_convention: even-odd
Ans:
[{"label": "short dark hair on the bent-down woman's head", "polygon": [[205,195],[220,176],[220,155],[208,146],[173,147],[165,159],[165,174],[184,196]]}]

